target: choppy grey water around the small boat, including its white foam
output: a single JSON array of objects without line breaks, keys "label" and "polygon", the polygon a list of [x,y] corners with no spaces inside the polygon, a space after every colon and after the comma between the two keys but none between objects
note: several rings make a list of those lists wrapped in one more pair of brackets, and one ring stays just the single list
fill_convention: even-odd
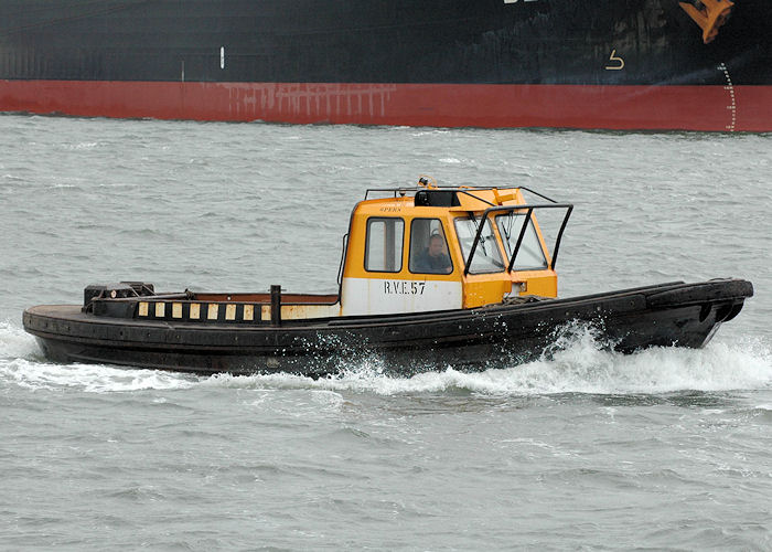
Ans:
[{"label": "choppy grey water around the small boat, including its white foam", "polygon": [[[703,350],[313,381],[42,358],[85,285],[334,291],[367,188],[577,206],[564,296],[744,277]],[[772,549],[772,136],[0,116],[0,549]],[[495,359],[491,359],[492,365]]]}]

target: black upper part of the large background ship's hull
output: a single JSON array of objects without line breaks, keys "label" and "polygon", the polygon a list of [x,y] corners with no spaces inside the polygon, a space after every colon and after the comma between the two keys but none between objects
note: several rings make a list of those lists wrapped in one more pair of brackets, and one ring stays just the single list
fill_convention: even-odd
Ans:
[{"label": "black upper part of the large background ship's hull", "polygon": [[677,0],[0,0],[0,78],[770,85],[771,22],[735,0],[704,44]]}]

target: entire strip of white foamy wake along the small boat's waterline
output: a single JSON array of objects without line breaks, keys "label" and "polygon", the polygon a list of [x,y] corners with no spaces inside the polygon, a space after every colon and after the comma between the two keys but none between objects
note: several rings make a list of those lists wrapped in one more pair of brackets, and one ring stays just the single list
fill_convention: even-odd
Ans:
[{"label": "entire strip of white foamy wake along the small boat's waterline", "polygon": [[699,350],[652,348],[635,354],[609,350],[592,331],[575,332],[549,358],[482,372],[448,367],[410,378],[387,375],[378,358],[349,365],[341,374],[314,380],[287,373],[211,378],[98,364],[46,362],[23,329],[0,322],[0,383],[31,389],[71,388],[84,392],[182,390],[194,386],[324,390],[376,395],[467,393],[487,396],[663,394],[772,389],[772,353],[758,339],[712,342]]}]

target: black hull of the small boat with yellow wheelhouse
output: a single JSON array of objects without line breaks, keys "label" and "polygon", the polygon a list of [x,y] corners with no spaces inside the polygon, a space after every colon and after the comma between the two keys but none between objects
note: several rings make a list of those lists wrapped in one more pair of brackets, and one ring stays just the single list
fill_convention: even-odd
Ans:
[{"label": "black hull of the small boat with yellow wheelhouse", "polygon": [[749,282],[664,284],[570,299],[470,310],[288,321],[281,327],[185,325],[39,306],[24,328],[56,362],[107,363],[214,374],[290,372],[321,376],[376,358],[398,374],[485,370],[524,362],[558,347],[573,323],[590,323],[609,347],[699,348],[753,295]]}]

